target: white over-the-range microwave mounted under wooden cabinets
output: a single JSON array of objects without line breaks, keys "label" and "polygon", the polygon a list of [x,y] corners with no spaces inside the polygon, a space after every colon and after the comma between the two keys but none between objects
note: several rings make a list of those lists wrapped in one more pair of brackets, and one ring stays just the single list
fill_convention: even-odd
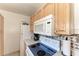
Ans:
[{"label": "white over-the-range microwave mounted under wooden cabinets", "polygon": [[48,15],[34,22],[34,33],[52,36],[54,34],[54,17]]}]

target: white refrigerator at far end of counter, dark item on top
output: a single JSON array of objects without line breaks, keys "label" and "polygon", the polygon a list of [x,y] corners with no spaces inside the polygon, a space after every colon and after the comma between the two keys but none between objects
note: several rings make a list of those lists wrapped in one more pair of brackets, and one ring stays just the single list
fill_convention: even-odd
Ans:
[{"label": "white refrigerator at far end of counter, dark item on top", "polygon": [[30,27],[27,23],[21,23],[20,56],[25,54],[25,40],[30,39]]}]

